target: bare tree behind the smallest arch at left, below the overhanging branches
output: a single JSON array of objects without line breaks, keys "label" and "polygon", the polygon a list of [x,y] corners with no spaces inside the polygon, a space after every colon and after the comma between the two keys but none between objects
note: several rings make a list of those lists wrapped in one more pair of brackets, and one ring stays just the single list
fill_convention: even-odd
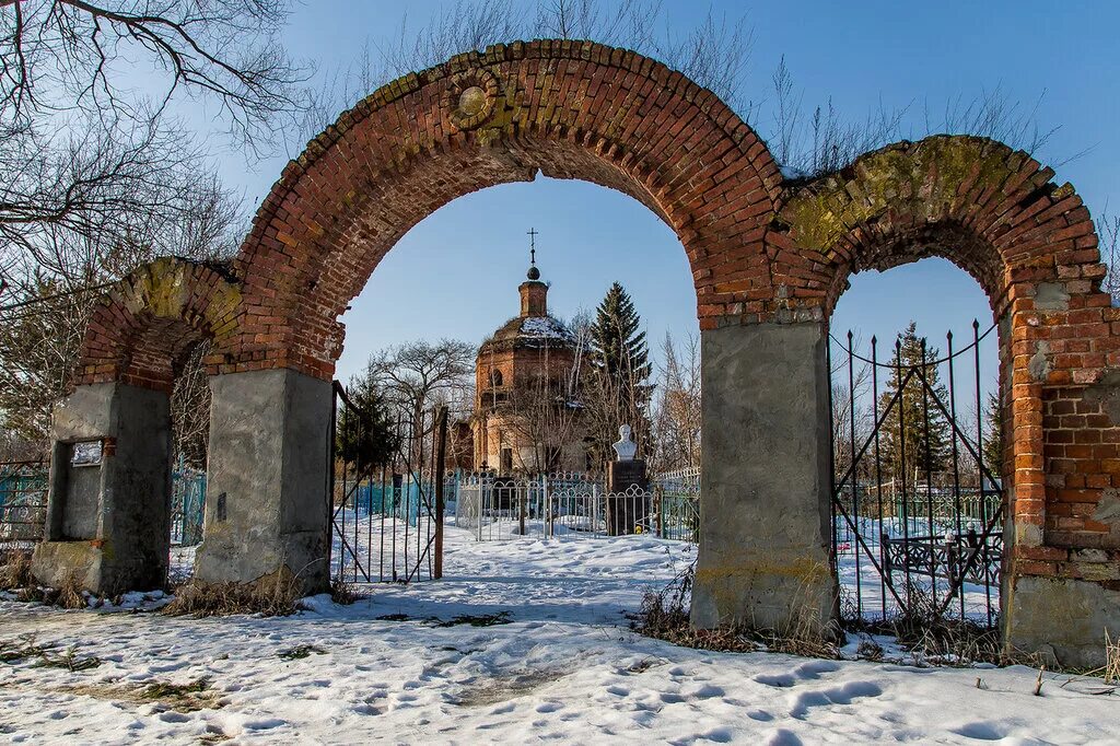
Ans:
[{"label": "bare tree behind the smallest arch at left, below the overhanging branches", "polygon": [[[44,232],[43,262],[17,262],[13,285],[0,306],[0,429],[46,447],[53,404],[67,391],[85,327],[100,289],[157,255],[177,253],[217,261],[232,254],[241,233],[240,205],[213,179],[184,187],[181,209],[121,216],[131,235]],[[194,190],[192,190],[194,189]],[[172,251],[174,250],[174,251]],[[175,361],[172,393],[176,444],[192,465],[205,460],[209,390],[202,367],[204,348]]]}]

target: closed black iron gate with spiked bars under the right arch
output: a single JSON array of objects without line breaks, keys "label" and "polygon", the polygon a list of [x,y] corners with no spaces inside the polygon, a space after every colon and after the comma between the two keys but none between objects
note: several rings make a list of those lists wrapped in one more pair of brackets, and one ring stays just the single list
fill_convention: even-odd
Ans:
[{"label": "closed black iron gate with spiked bars under the right arch", "polygon": [[948,334],[939,357],[912,326],[886,363],[875,337],[867,356],[851,332],[831,338],[832,560],[846,621],[996,623],[1001,427],[998,394],[986,402],[981,372],[995,328],[980,334],[973,321],[959,351]]}]

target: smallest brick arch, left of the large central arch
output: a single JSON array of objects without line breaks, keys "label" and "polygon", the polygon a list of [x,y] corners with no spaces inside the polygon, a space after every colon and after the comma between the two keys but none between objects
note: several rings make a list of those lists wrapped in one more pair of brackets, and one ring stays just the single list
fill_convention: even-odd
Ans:
[{"label": "smallest brick arch, left of the large central arch", "polygon": [[215,342],[206,365],[218,373],[241,315],[241,291],[227,268],[172,257],[144,264],[94,307],[75,384],[119,381],[170,391],[175,364],[204,338]]}]

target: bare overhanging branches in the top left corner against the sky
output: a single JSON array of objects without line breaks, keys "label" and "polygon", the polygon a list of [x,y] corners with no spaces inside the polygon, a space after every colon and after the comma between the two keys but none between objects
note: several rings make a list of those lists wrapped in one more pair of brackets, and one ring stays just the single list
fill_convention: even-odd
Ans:
[{"label": "bare overhanging branches in the top left corner against the sky", "polygon": [[[143,122],[179,93],[218,105],[258,149],[298,108],[308,69],[280,44],[284,0],[0,0],[0,121],[82,112]],[[155,90],[127,71],[157,72]]]}]

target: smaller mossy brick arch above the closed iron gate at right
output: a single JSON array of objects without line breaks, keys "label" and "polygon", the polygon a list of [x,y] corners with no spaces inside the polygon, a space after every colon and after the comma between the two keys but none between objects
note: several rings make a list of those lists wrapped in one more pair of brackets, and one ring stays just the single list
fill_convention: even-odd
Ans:
[{"label": "smaller mossy brick arch above the closed iron gate at right", "polygon": [[816,270],[802,285],[823,290],[825,315],[853,272],[943,257],[980,283],[998,318],[1032,283],[1084,295],[1104,276],[1089,211],[1053,178],[995,140],[934,136],[791,185],[780,222]]}]

